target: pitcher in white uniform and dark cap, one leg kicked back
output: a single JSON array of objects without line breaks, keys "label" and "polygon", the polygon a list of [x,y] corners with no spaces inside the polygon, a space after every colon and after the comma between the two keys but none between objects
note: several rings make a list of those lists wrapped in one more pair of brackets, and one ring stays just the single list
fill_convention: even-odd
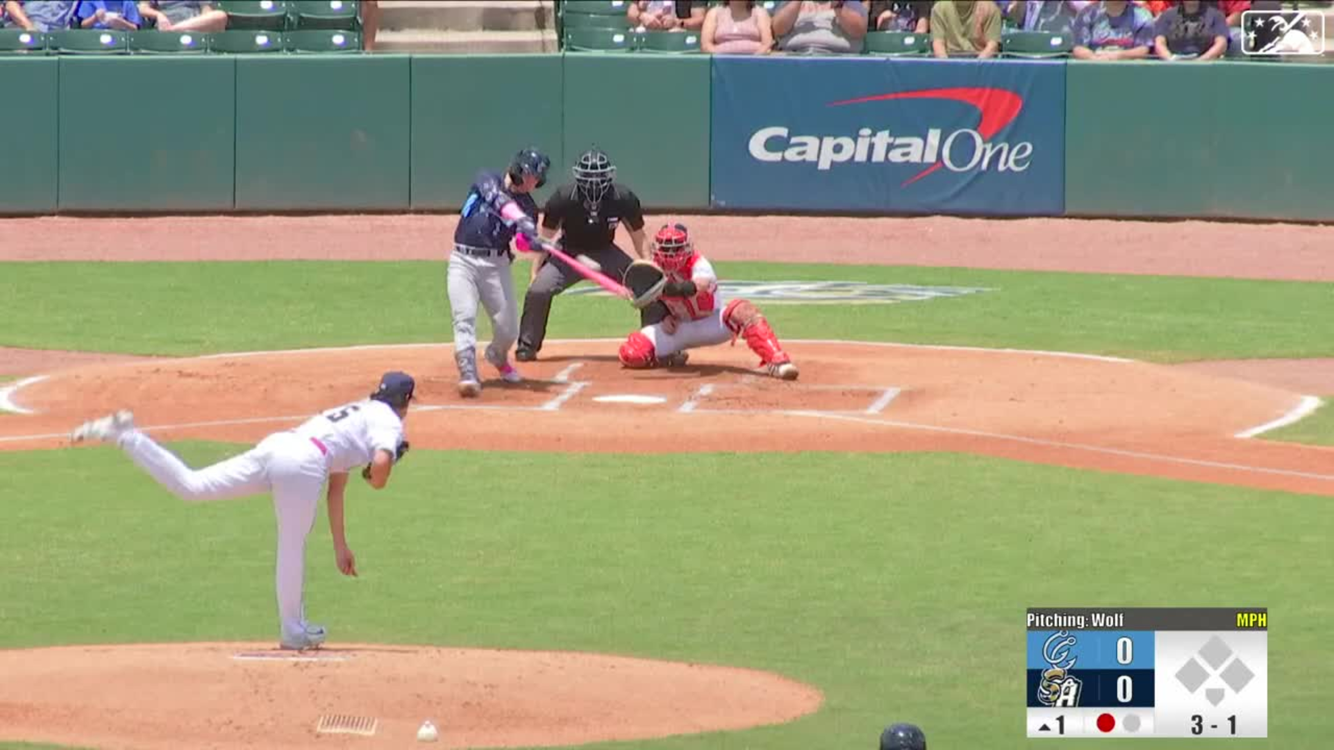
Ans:
[{"label": "pitcher in white uniform and dark cap, one leg kicked back", "polygon": [[368,398],[315,415],[293,430],[275,432],[253,448],[205,468],[191,468],[135,427],[133,414],[117,411],[73,431],[72,440],[113,442],[129,458],[185,502],[228,500],[272,492],[277,519],[277,617],[280,646],[317,647],[325,630],[305,621],[305,538],[315,526],[320,487],[328,480],[334,559],[344,575],[356,575],[356,556],[343,531],[347,472],[380,490],[408,450],[403,420],[416,384],[406,372],[386,372]]}]

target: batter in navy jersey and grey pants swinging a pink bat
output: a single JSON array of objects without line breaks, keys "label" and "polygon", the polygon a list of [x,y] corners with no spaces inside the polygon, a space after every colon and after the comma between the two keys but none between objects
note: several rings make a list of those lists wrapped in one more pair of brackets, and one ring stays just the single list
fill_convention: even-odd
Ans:
[{"label": "batter in navy jersey and grey pants swinging a pink bat", "polygon": [[[454,318],[454,359],[459,368],[459,394],[482,392],[478,376],[478,300],[491,318],[491,343],[484,356],[507,383],[523,380],[510,364],[510,347],[519,338],[519,303],[514,296],[510,264],[515,232],[538,238],[538,204],[530,195],[547,181],[551,159],[524,148],[510,161],[506,173],[482,172],[463,202],[450,254],[448,294]],[[527,250],[524,243],[520,250]]]}]

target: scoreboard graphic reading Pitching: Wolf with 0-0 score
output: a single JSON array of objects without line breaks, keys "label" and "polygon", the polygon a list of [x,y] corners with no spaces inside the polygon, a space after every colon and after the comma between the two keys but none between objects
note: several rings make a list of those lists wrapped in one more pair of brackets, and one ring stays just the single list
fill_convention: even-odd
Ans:
[{"label": "scoreboard graphic reading Pitching: Wolf with 0-0 score", "polygon": [[1029,609],[1029,737],[1269,737],[1269,609]]}]

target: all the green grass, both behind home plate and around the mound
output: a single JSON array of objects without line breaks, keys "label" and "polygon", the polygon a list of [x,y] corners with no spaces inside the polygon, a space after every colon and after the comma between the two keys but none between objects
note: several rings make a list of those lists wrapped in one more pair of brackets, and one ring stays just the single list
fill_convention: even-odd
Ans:
[{"label": "all the green grass, both behind home plate and around the mound", "polygon": [[[992,290],[767,308],[787,339],[1158,362],[1334,355],[1329,284],[719,267],[734,279]],[[443,263],[8,264],[0,296],[31,315],[5,318],[0,346],[199,354],[448,340],[443,274]],[[623,303],[563,299],[551,335],[620,336],[632,324]],[[1334,416],[1325,407],[1278,436],[1331,442]],[[193,464],[237,450],[172,447]],[[267,498],[185,506],[109,447],[0,452],[0,647],[275,637]],[[348,502],[360,578],[335,570],[323,511],[309,544],[307,602],[334,641],[728,663],[827,698],[784,726],[608,749],[872,747],[894,721],[919,723],[939,750],[1029,747],[1023,614],[1053,603],[1267,606],[1270,738],[1203,745],[1318,749],[1334,734],[1326,498],[951,454],[414,450],[390,490],[354,487]]]}]

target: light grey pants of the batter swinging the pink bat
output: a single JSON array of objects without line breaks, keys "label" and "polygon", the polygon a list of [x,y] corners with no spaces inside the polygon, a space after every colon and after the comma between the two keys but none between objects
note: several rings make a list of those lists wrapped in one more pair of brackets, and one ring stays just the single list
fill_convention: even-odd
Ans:
[{"label": "light grey pants of the batter swinging the pink bat", "polygon": [[504,362],[519,338],[519,300],[514,296],[510,256],[478,258],[450,255],[450,312],[454,318],[454,351],[472,354],[478,346],[478,299],[491,318],[487,360]]}]

